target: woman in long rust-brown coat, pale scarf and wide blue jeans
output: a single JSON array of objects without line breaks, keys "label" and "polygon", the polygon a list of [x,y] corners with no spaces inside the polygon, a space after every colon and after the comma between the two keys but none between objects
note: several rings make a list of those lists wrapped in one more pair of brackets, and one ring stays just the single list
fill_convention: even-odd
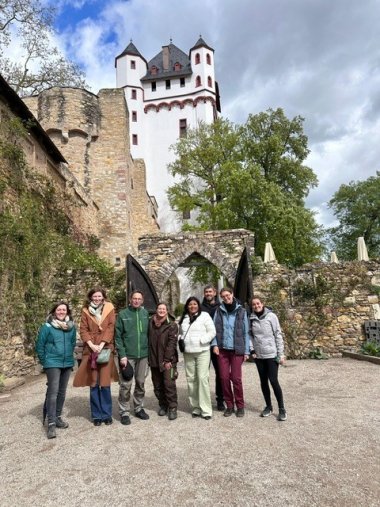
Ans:
[{"label": "woman in long rust-brown coat, pale scarf and wide blue jeans", "polygon": [[[114,361],[115,310],[105,299],[106,293],[99,287],[87,294],[80,321],[83,356],[74,378],[74,387],[90,386],[91,417],[95,426],[102,422],[112,424],[111,382],[118,380]],[[98,363],[103,349],[110,351],[109,358]]]}]

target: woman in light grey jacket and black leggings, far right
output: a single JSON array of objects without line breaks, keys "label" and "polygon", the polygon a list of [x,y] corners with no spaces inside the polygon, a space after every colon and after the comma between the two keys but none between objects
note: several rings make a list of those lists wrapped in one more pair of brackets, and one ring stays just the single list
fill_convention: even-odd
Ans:
[{"label": "woman in light grey jacket and black leggings, far right", "polygon": [[260,376],[261,391],[266,407],[261,417],[268,417],[272,411],[269,389],[271,383],[279,408],[279,421],[286,421],[286,410],[282,389],[278,382],[278,366],[285,363],[284,340],[277,315],[265,307],[262,300],[254,296],[251,301],[251,355],[255,359]]}]

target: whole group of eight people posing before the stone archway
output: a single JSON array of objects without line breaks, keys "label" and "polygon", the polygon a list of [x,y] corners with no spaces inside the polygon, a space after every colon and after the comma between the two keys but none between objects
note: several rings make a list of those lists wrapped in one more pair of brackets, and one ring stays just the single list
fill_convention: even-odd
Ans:
[{"label": "whole group of eight people posing before the stone archway", "polygon": [[[256,296],[251,301],[249,316],[230,288],[221,289],[220,298],[221,302],[216,289],[207,285],[202,303],[194,296],[187,299],[177,324],[163,302],[150,317],[139,290],[132,292],[129,305],[117,317],[102,288],[89,291],[80,320],[82,357],[73,385],[90,387],[91,419],[95,426],[113,422],[111,383],[117,381],[121,424],[131,423],[131,410],[135,417],[149,419],[144,410],[149,368],[158,415],[175,420],[178,345],[183,352],[192,417],[205,420],[212,417],[210,362],[215,368],[217,409],[225,417],[234,413],[236,417],[244,416],[242,365],[251,356],[265,399],[260,415],[267,417],[273,411],[270,383],[278,403],[278,419],[286,420],[278,382],[279,364],[285,362],[284,342],[277,316]],[[62,408],[74,366],[75,346],[76,329],[70,308],[60,302],[41,326],[36,343],[37,356],[47,375],[44,420],[47,417],[48,438],[56,437],[57,428],[68,427],[62,419]]]}]

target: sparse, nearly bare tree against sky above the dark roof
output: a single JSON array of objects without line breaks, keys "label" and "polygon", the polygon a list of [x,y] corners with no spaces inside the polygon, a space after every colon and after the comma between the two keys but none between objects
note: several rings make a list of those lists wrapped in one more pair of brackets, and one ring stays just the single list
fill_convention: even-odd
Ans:
[{"label": "sparse, nearly bare tree against sky above the dark roof", "polygon": [[[40,0],[0,0],[0,72],[21,96],[86,84],[80,68],[51,43],[54,17],[54,8]],[[6,57],[17,43],[21,57]]]}]

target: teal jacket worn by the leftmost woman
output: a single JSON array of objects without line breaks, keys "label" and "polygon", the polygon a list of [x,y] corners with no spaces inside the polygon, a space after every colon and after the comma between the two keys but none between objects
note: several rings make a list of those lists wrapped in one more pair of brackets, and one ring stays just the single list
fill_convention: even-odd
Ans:
[{"label": "teal jacket worn by the leftmost woman", "polygon": [[46,322],[40,328],[36,353],[44,369],[74,366],[75,327],[63,331]]}]

